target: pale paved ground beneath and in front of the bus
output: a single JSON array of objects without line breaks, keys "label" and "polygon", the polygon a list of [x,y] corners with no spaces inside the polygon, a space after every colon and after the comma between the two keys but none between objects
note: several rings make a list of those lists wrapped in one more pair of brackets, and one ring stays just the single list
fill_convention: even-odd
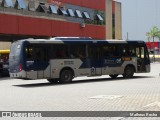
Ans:
[{"label": "pale paved ground beneath and in front of the bus", "polygon": [[132,79],[77,78],[71,84],[0,79],[0,111],[160,111],[160,64]]}]

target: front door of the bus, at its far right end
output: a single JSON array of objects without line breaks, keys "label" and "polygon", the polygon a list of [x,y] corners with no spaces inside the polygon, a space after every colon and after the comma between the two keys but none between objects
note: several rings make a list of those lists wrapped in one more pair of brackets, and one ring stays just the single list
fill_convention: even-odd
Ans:
[{"label": "front door of the bus, at its far right end", "polygon": [[150,72],[150,60],[148,50],[145,46],[136,47],[137,71]]}]

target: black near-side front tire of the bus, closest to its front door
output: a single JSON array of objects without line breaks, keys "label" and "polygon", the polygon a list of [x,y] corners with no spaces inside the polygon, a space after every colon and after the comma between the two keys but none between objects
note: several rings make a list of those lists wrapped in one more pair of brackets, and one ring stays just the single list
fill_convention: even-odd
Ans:
[{"label": "black near-side front tire of the bus, closest to its front door", "polygon": [[123,77],[124,78],[132,78],[134,75],[134,67],[132,66],[127,66],[124,70]]}]

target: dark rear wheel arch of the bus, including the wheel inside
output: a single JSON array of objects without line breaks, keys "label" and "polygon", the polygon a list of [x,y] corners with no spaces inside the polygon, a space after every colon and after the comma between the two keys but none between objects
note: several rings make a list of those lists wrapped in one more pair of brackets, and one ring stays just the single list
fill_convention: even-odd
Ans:
[{"label": "dark rear wheel arch of the bus, including the wheel inside", "polygon": [[70,83],[74,78],[74,71],[70,67],[65,67],[60,71],[59,81],[61,83]]}]

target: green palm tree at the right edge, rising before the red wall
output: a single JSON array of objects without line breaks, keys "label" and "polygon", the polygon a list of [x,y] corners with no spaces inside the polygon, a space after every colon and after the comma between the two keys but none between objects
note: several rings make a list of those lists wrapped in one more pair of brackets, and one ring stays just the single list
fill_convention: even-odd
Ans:
[{"label": "green palm tree at the right edge, rising before the red wall", "polygon": [[154,40],[155,38],[158,38],[160,39],[160,30],[158,27],[156,26],[153,26],[149,32],[146,33],[146,36],[148,38],[148,41],[150,41],[151,39],[153,39],[153,59],[154,59],[154,62],[155,62],[155,46],[154,46]]}]

